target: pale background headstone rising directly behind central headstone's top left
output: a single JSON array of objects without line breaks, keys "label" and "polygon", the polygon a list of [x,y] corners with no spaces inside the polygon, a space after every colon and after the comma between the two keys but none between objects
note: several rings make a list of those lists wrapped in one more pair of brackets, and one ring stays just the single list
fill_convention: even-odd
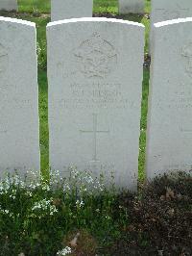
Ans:
[{"label": "pale background headstone rising directly behind central headstone's top left", "polygon": [[93,0],[51,0],[51,20],[92,17]]}]

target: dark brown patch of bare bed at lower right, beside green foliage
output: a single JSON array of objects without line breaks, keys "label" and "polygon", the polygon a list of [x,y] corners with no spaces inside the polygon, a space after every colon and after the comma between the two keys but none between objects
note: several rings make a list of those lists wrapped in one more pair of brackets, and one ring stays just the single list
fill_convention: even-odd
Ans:
[{"label": "dark brown patch of bare bed at lower right, beside green foliage", "polygon": [[192,177],[163,176],[137,195],[121,194],[130,225],[110,255],[192,255]]}]

